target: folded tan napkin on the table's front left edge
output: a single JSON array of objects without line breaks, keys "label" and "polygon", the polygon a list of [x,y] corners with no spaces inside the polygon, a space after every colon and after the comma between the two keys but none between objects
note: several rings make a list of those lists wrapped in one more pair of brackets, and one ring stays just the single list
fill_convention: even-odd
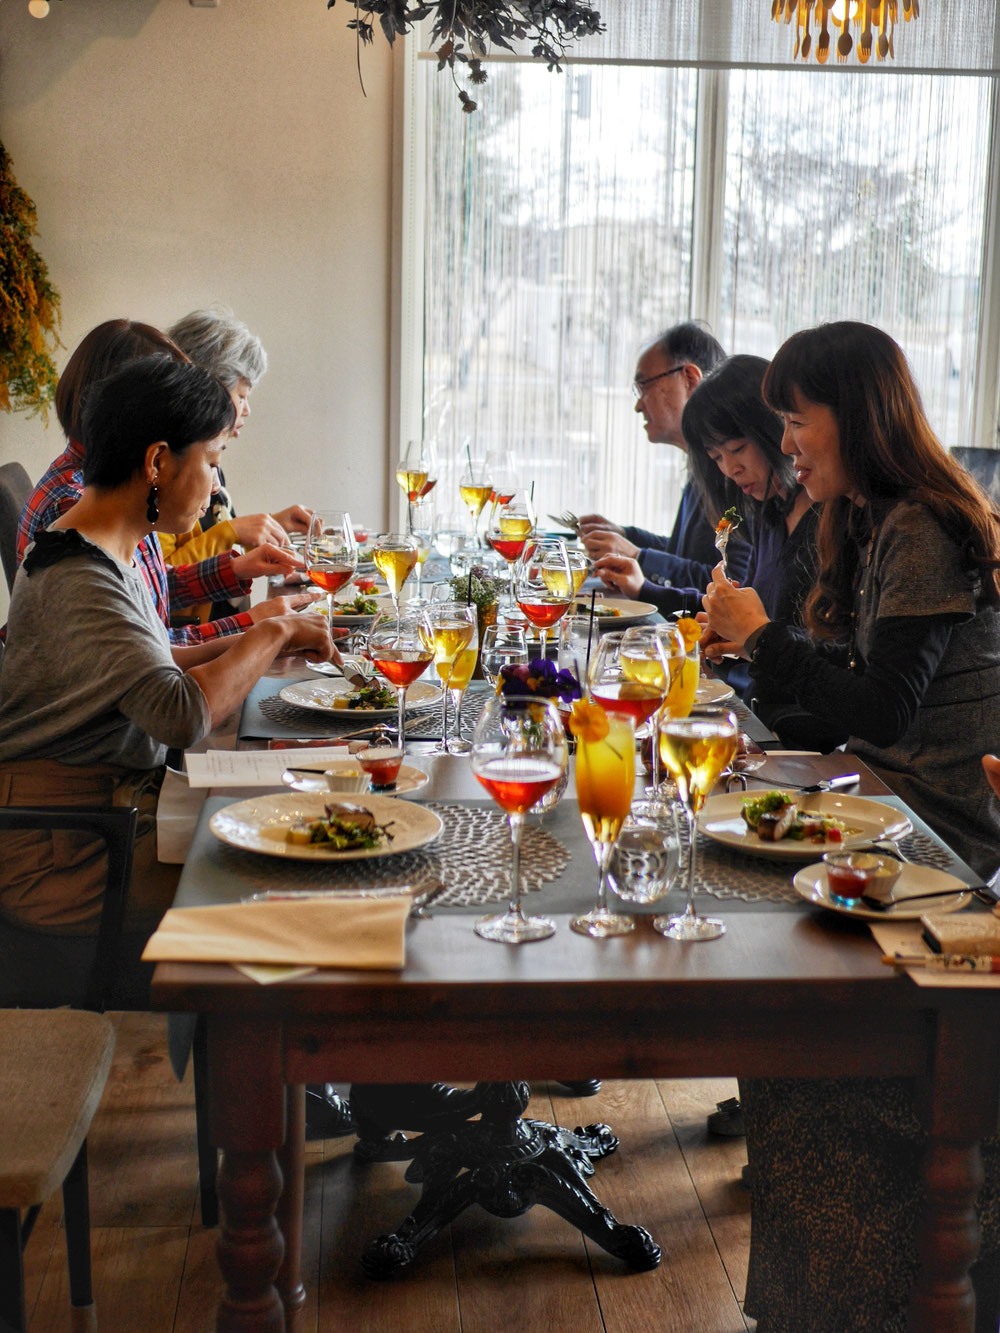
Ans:
[{"label": "folded tan napkin on the table's front left edge", "polygon": [[171,908],[147,942],[148,962],[264,962],[401,968],[408,894]]}]

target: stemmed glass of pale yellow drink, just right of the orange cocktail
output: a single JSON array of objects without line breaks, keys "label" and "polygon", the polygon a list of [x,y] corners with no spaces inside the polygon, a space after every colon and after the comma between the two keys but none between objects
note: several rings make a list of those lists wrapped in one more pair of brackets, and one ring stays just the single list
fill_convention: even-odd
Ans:
[{"label": "stemmed glass of pale yellow drink, just right of the orange cocktail", "polygon": [[728,708],[700,704],[687,717],[661,717],[659,725],[660,756],[677,784],[688,817],[688,897],[681,916],[655,917],[653,926],[671,940],[717,940],[725,934],[725,924],[695,912],[697,813],[736,754],[736,714]]}]

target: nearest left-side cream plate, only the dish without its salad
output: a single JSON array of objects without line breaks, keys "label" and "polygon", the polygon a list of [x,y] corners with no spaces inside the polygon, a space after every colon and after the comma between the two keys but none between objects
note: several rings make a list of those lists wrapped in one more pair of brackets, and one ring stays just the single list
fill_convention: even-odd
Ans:
[{"label": "nearest left-side cream plate, only the dish without its salad", "polygon": [[[392,825],[392,842],[365,850],[336,852],[332,848],[307,842],[288,842],[285,834],[299,820],[317,820],[324,805],[333,800],[349,800],[371,810],[379,824]],[[288,856],[296,861],[357,861],[376,856],[395,856],[433,842],[441,832],[441,821],[425,805],[400,801],[396,796],[308,796],[299,792],[280,792],[277,796],[256,796],[216,810],[208,825],[220,842],[244,852],[263,852],[264,856]]]}]

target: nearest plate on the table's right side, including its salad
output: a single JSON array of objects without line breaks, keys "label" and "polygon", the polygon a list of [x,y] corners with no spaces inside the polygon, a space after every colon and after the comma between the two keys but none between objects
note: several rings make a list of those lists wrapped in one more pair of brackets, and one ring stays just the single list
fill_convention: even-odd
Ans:
[{"label": "nearest plate on the table's right side, including its salad", "polygon": [[912,832],[905,814],[881,801],[777,789],[709,796],[697,826],[713,842],[737,852],[791,861],[812,861],[824,852],[849,850]]}]

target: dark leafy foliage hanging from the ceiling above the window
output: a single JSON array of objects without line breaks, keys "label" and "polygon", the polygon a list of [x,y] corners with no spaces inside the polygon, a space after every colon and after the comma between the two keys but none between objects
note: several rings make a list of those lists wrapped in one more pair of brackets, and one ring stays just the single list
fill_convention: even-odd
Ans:
[{"label": "dark leafy foliage hanging from the ceiling above the window", "polygon": [[[336,0],[327,0],[328,9],[335,4]],[[355,17],[348,28],[357,35],[359,77],[361,44],[373,41],[376,19],[392,45],[396,36],[405,36],[415,23],[431,15],[435,15],[431,43],[440,43],[435,51],[437,68],[447,65],[455,80],[455,65],[467,65],[473,84],[487,81],[481,57],[491,45],[512,51],[513,41],[531,41],[532,56],[561,72],[559,61],[565,57],[567,43],[604,32],[600,13],[580,0],[435,0],[432,4],[355,0]],[[459,87],[457,80],[455,87]],[[459,88],[459,101],[463,111],[476,109],[464,88]]]}]

